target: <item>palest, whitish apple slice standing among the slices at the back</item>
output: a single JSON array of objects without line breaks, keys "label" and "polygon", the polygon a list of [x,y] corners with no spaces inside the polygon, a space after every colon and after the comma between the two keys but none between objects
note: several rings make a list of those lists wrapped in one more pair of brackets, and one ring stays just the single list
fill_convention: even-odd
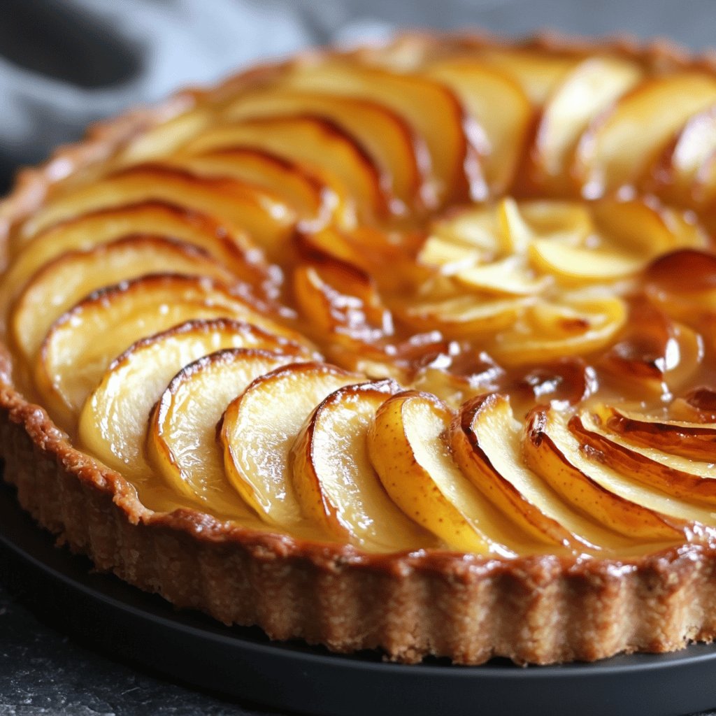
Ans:
[{"label": "palest, whitish apple slice standing among the slices at the back", "polygon": [[548,98],[535,132],[532,160],[538,180],[566,187],[569,155],[589,120],[641,77],[637,64],[616,57],[590,57],[574,67]]}]

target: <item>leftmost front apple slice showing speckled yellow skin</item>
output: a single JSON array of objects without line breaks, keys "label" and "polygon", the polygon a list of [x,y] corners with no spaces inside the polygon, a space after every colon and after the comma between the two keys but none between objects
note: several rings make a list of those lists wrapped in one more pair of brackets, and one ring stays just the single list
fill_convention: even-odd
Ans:
[{"label": "leftmost front apple slice showing speckled yellow skin", "polygon": [[452,413],[430,393],[402,392],[379,408],[368,453],[383,487],[405,514],[451,549],[514,556],[531,538],[485,500],[458,470],[442,436]]}]

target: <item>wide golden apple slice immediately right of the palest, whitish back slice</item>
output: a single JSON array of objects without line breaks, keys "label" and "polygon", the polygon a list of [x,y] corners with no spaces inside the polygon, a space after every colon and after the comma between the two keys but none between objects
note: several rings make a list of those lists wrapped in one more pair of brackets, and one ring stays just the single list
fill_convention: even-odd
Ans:
[{"label": "wide golden apple slice immediately right of the palest, whitish back slice", "polygon": [[640,82],[581,137],[574,170],[586,193],[594,197],[639,180],[669,137],[715,101],[716,79],[706,73],[676,72]]}]

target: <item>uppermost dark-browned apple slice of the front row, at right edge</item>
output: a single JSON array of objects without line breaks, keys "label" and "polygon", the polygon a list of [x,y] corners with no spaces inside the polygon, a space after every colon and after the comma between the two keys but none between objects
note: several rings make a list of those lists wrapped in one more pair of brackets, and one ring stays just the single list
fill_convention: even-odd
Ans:
[{"label": "uppermost dark-browned apple slice of the front row, at right edge", "polygon": [[614,432],[642,448],[657,448],[706,463],[714,461],[716,425],[665,420],[663,417],[644,415],[616,405],[603,405],[590,410],[601,419],[602,430]]}]

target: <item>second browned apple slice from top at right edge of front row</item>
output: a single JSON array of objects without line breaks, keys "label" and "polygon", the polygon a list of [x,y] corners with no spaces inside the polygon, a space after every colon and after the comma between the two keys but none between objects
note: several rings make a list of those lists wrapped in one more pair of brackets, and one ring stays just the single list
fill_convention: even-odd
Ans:
[{"label": "second browned apple slice from top at right edge of front row", "polygon": [[[571,432],[591,448],[589,455],[592,458],[637,483],[656,488],[677,500],[707,505],[713,511],[716,506],[716,469],[712,463],[635,445],[608,428],[605,430],[600,425],[600,413],[601,410],[593,415],[591,410],[584,410],[569,421]],[[715,518],[712,516],[712,523]]]}]

